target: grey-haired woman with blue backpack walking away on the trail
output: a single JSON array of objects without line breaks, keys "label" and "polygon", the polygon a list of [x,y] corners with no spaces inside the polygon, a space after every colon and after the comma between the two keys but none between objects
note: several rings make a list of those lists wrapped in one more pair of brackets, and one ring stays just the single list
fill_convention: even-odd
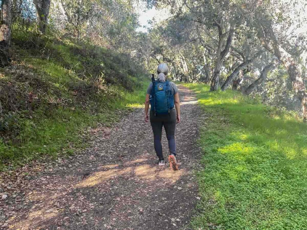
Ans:
[{"label": "grey-haired woman with blue backpack walking away on the trail", "polygon": [[150,104],[150,124],[153,129],[153,143],[159,158],[159,166],[165,165],[161,145],[162,127],[164,126],[169,142],[169,164],[173,170],[178,170],[175,129],[176,123],[180,122],[180,102],[177,86],[166,78],[168,72],[169,68],[165,63],[159,64],[157,67],[158,79],[155,80],[153,77],[147,88],[145,121],[149,120],[147,113]]}]

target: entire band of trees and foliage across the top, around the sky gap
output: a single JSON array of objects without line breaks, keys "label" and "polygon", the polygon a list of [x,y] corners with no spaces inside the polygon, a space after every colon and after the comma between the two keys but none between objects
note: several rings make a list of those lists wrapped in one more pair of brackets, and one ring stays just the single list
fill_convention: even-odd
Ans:
[{"label": "entire band of trees and foliage across the top, around the sky gap", "polygon": [[[146,71],[167,62],[175,80],[205,82],[211,90],[232,87],[307,119],[304,0],[146,3],[167,8],[169,18],[151,21],[148,33],[142,33],[136,32],[134,1],[5,0],[0,38],[10,33],[30,42],[33,33],[57,40],[73,37],[126,53]],[[5,13],[8,6],[10,14]],[[9,45],[10,40],[2,40],[3,47]],[[2,51],[6,65],[10,55]]]}]

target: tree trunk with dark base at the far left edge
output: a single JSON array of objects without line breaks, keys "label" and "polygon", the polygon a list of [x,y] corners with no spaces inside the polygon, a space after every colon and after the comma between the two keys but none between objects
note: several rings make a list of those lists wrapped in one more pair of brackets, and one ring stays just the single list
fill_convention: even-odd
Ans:
[{"label": "tree trunk with dark base at the far left edge", "polygon": [[2,21],[0,25],[0,65],[2,67],[10,62],[11,20],[11,0],[2,0]]}]

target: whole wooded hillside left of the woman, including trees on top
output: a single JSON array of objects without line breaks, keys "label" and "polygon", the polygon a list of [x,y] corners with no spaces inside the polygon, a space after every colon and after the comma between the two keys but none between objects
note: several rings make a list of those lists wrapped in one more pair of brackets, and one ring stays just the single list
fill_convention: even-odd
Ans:
[{"label": "whole wooded hillside left of the woman, including trees on top", "polygon": [[84,128],[111,122],[115,109],[142,98],[136,16],[125,3],[104,4],[2,1],[2,163],[72,151]]}]

